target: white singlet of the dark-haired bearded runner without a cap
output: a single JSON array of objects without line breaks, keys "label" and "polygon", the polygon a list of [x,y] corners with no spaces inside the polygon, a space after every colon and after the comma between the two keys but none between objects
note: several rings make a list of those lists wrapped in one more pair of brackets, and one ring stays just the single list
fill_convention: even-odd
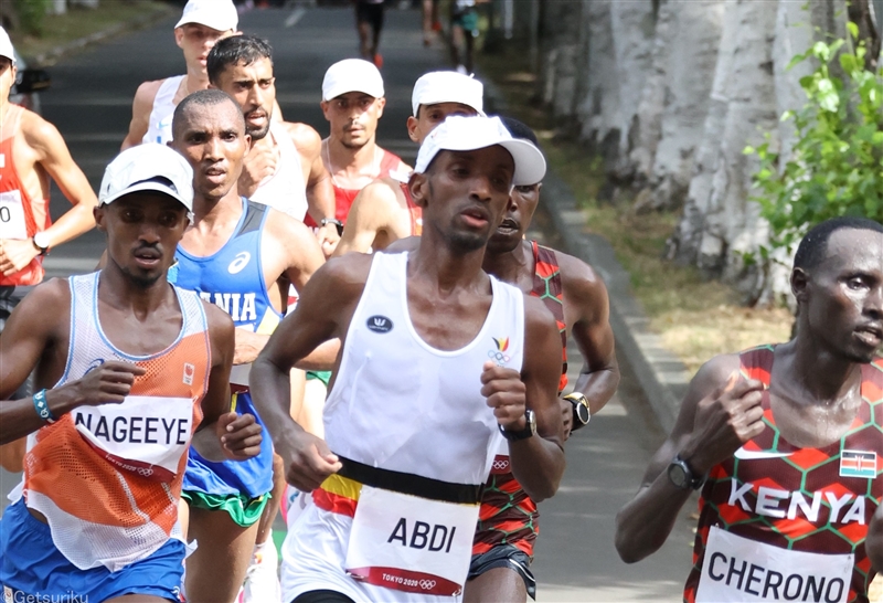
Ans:
[{"label": "white singlet of the dark-haired bearded runner without a cap", "polygon": [[300,154],[285,126],[273,121],[269,136],[279,148],[279,163],[276,173],[265,178],[252,194],[252,201],[264,203],[304,221],[307,215],[307,184],[300,167]]}]

